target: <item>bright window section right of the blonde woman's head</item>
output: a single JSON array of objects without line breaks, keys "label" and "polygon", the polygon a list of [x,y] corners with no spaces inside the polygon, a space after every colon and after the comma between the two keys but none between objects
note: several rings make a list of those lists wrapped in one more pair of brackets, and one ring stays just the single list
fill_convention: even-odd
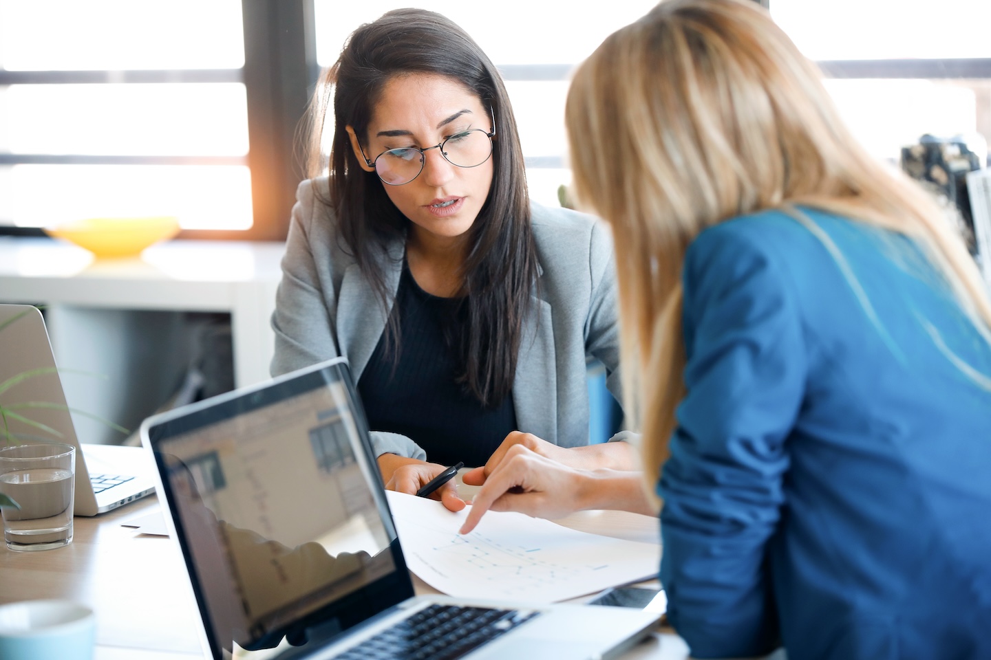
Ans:
[{"label": "bright window section right of the blonde woman's head", "polygon": [[877,157],[897,161],[927,133],[991,139],[986,0],[771,0],[770,10]]}]

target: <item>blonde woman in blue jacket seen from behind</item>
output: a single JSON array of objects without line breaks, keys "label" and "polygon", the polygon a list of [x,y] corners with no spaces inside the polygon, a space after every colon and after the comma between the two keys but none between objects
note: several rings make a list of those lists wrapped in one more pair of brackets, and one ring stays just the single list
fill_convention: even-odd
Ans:
[{"label": "blonde woman in blue jacket seen from behind", "polygon": [[991,658],[991,305],[934,204],[744,0],[613,34],[567,123],[693,655]]}]

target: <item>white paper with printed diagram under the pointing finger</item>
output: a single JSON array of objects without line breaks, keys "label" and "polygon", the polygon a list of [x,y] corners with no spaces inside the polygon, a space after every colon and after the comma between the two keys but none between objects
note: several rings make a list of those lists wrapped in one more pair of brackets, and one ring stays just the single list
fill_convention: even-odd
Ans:
[{"label": "white paper with printed diagram under the pointing finger", "polygon": [[522,514],[489,512],[469,534],[468,510],[388,491],[409,570],[461,598],[566,601],[657,576],[659,544],[589,534]]}]

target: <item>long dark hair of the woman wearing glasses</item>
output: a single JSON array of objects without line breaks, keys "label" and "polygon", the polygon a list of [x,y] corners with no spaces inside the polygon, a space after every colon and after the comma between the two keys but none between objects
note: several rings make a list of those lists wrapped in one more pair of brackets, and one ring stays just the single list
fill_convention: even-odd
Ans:
[{"label": "long dark hair of the woman wearing glasses", "polygon": [[[385,285],[386,245],[405,236],[409,221],[392,205],[375,172],[361,168],[345,127],[368,143],[368,125],[385,83],[405,73],[454,78],[494,117],[493,182],[469,231],[461,291],[467,310],[454,345],[459,381],[484,406],[496,406],[512,389],[537,258],[516,120],[505,85],[482,48],[447,18],[419,9],[391,11],[358,28],[314,97],[309,173],[329,168],[329,196],[321,201],[337,214],[344,247],[387,308],[392,292]],[[320,145],[332,94],[335,126],[328,163]],[[394,310],[386,332],[397,341]]]}]

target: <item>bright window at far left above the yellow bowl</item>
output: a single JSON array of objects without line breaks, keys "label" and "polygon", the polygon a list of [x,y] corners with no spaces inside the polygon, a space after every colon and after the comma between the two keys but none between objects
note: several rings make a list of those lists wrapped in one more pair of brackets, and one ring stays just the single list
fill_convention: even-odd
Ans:
[{"label": "bright window at far left above the yellow bowl", "polygon": [[0,232],[175,215],[185,236],[284,236],[315,78],[302,4],[0,0]]}]

